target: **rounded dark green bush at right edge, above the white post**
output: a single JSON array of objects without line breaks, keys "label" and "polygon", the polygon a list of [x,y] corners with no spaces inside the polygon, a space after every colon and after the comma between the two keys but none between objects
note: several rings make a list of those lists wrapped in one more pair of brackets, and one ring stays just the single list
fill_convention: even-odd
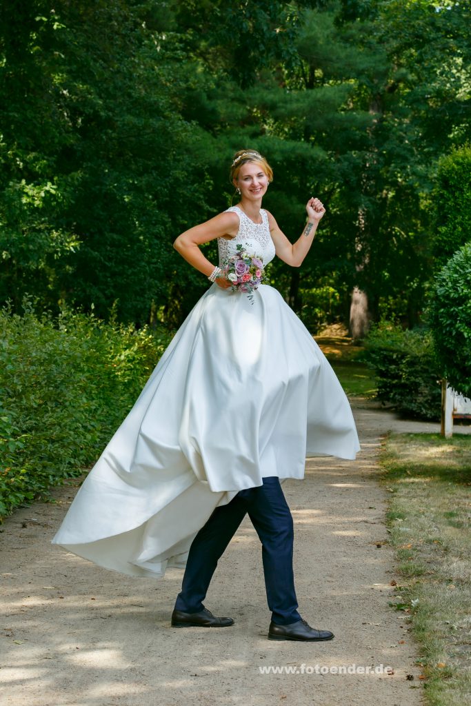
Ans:
[{"label": "rounded dark green bush at right edge, above the white post", "polygon": [[436,277],[429,315],[442,376],[471,397],[471,241]]}]

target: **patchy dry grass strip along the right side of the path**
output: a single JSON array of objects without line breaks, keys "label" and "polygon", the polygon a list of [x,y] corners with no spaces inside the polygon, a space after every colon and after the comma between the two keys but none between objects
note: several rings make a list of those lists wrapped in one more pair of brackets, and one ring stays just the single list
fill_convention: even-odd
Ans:
[{"label": "patchy dry grass strip along the right side of the path", "polygon": [[427,703],[463,706],[471,690],[471,438],[392,435],[381,463],[403,576],[395,602],[419,643]]}]

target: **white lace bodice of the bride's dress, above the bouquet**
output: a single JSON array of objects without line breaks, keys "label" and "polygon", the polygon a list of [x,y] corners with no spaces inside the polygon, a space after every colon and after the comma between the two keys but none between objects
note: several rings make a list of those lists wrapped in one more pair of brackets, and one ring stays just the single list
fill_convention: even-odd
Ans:
[{"label": "white lace bodice of the bride's dress, above the bouquet", "polygon": [[237,245],[244,245],[251,254],[253,253],[261,258],[263,265],[268,265],[275,257],[275,246],[271,239],[266,210],[263,210],[263,208],[260,210],[261,223],[254,223],[239,206],[231,206],[227,210],[237,213],[240,225],[236,237],[230,240],[226,238],[217,239],[220,267],[227,258],[237,253]]}]

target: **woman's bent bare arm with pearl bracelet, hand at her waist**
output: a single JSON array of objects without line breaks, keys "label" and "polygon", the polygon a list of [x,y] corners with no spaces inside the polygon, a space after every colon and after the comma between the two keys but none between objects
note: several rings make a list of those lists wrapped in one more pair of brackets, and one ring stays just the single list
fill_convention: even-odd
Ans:
[{"label": "woman's bent bare arm with pearl bracelet, hand at her waist", "polygon": [[[215,238],[233,238],[237,235],[238,230],[239,216],[237,213],[225,211],[205,223],[193,226],[193,228],[181,233],[174,241],[174,249],[180,253],[181,257],[184,258],[186,262],[193,265],[198,272],[209,277],[215,265],[210,263],[208,258],[205,258],[199,246]],[[216,282],[217,285],[223,289],[230,287],[230,282],[227,282],[225,279],[217,279]]]}]

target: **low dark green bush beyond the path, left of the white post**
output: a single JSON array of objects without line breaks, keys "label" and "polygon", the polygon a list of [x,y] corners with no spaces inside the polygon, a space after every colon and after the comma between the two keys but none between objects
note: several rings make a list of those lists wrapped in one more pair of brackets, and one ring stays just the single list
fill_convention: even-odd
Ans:
[{"label": "low dark green bush beyond the path, left of the white post", "polygon": [[371,329],[364,359],[375,371],[379,400],[408,417],[440,419],[441,376],[428,330],[383,321]]}]

